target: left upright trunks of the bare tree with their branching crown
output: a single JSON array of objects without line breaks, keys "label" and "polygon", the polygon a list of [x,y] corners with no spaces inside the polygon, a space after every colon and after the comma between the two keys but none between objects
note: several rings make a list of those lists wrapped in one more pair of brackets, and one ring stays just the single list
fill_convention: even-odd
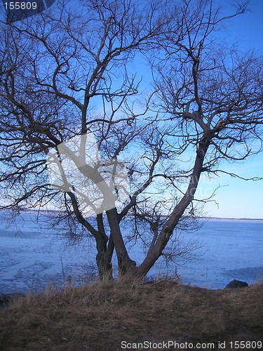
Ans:
[{"label": "left upright trunks of the bare tree with their branching crown", "polygon": [[[110,234],[99,213],[92,225],[76,192],[59,192],[47,177],[50,149],[76,135],[93,133],[102,157],[118,157],[143,126],[133,112],[140,81],[128,72],[135,55],[163,31],[160,4],[130,1],[58,3],[56,11],[2,24],[1,183],[4,208],[64,203],[67,216],[93,235],[100,277],[111,277],[114,248],[120,267],[134,267],[116,208],[106,211]],[[143,15],[141,14],[143,13]],[[94,112],[94,110],[97,112]],[[86,169],[84,169],[86,168]],[[81,169],[90,170],[86,164]],[[102,176],[97,172],[97,178]]]}]

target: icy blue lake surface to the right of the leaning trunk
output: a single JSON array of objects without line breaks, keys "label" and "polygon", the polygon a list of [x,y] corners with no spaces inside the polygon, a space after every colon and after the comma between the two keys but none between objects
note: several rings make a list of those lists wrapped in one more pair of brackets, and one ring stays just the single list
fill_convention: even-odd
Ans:
[{"label": "icy blue lake surface to the right of the leaning trunk", "polygon": [[196,234],[207,251],[182,267],[182,282],[212,289],[232,279],[263,282],[263,221],[210,219]]}]

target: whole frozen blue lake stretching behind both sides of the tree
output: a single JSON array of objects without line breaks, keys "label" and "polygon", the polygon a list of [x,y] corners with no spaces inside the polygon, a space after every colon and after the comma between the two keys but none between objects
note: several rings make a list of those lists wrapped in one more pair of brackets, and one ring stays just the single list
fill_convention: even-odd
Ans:
[{"label": "whole frozen blue lake stretching behind both sides of the tree", "polygon": [[[96,275],[93,242],[86,238],[74,246],[57,231],[48,230],[45,216],[24,213],[8,222],[0,213],[0,293],[42,291],[48,282],[86,283],[87,273]],[[202,246],[187,262],[160,260],[149,276],[180,275],[184,284],[222,289],[232,279],[252,284],[263,282],[263,220],[210,219],[195,233],[183,233]],[[140,262],[140,248],[131,258]],[[90,279],[90,278],[89,278]]]}]

